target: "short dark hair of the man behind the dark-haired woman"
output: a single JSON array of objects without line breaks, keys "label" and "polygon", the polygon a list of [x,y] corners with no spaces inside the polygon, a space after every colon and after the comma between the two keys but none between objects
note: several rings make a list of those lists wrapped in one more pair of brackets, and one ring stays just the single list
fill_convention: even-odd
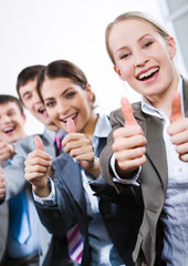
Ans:
[{"label": "short dark hair of the man behind the dark-haired woman", "polygon": [[[23,69],[17,79],[17,93],[20,98],[20,86],[25,85],[29,81],[34,80],[38,74],[40,73],[40,71],[44,68],[44,65],[42,64],[35,64],[35,65],[30,65],[25,69]],[[21,100],[21,98],[20,98]]]}]

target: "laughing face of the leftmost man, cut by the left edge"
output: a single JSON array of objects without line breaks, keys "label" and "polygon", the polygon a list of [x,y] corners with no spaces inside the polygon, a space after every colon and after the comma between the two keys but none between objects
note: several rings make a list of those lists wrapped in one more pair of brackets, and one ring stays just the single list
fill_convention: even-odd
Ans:
[{"label": "laughing face of the leftmost man, cut by the left edge", "polygon": [[13,143],[25,136],[25,115],[14,102],[0,104],[0,136],[8,143]]}]

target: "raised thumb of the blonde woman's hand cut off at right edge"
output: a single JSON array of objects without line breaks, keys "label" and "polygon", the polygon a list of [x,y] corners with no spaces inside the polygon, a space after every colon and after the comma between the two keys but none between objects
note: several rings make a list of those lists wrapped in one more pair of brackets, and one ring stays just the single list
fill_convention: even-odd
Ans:
[{"label": "raised thumb of the blonde woman's hand cut off at right edge", "polygon": [[179,92],[176,91],[171,98],[170,123],[177,122],[180,119],[182,119],[180,94],[179,94]]}]

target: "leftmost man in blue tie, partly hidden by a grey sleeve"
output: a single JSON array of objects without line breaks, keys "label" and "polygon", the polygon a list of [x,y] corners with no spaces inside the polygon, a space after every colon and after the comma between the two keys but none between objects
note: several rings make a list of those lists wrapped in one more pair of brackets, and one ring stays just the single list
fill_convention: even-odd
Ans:
[{"label": "leftmost man in blue tie, partly hidden by a grey sleeve", "polygon": [[[2,167],[10,164],[13,157],[10,143],[14,143],[24,139],[25,115],[21,102],[12,95],[0,95],[0,145],[2,151]],[[9,154],[9,155],[8,155]],[[21,208],[21,204],[25,204],[25,208]],[[18,212],[17,206],[19,205]],[[12,209],[13,207],[13,209]],[[22,214],[28,217],[24,222],[20,218]],[[9,202],[4,202],[0,206],[0,231],[1,231],[1,265],[39,265],[39,238],[38,238],[38,214],[33,202],[31,201],[31,192],[18,194]],[[35,223],[33,223],[33,221]],[[24,223],[24,224],[23,224]],[[29,226],[29,227],[27,227]],[[21,232],[20,234],[20,228]],[[28,231],[27,231],[28,228]],[[28,235],[27,235],[28,233]],[[24,234],[24,235],[23,235]],[[25,236],[25,237],[24,237]]]}]

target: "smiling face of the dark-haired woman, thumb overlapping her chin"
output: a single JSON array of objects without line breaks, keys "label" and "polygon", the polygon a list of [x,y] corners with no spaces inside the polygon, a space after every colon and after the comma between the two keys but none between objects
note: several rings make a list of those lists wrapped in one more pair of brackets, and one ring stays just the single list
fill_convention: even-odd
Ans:
[{"label": "smiling face of the dark-haired woman, thumb overlapping her chin", "polygon": [[45,79],[41,94],[49,116],[61,129],[66,131],[66,121],[72,119],[76,132],[90,132],[93,117],[93,92],[87,84],[83,90],[67,78]]}]

